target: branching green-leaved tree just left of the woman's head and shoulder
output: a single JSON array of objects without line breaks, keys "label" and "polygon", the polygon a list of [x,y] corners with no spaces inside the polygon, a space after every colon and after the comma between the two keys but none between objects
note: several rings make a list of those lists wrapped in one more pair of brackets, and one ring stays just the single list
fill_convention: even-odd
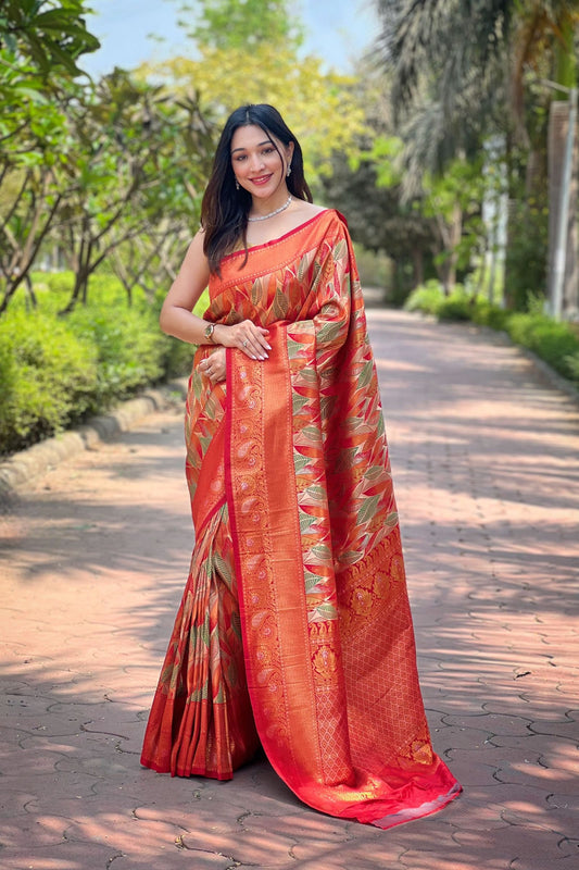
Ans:
[{"label": "branching green-leaved tree just left of the woman's head and shoulder", "polygon": [[[178,236],[179,225],[199,216],[214,146],[196,102],[171,99],[118,69],[71,104],[68,119],[78,150],[68,165],[74,188],[59,212],[75,272],[65,312],[86,301],[90,275],[121,246],[140,237],[150,263],[168,233]],[[119,272],[130,290],[131,270]],[[133,271],[135,279],[142,274]]]}]

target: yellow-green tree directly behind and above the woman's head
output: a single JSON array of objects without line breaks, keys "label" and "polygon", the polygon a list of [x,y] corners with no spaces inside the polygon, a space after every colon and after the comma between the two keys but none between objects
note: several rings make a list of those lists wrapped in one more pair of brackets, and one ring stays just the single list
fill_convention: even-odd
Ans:
[{"label": "yellow-green tree directly behind and above the woman's head", "polygon": [[329,173],[332,152],[351,151],[364,132],[355,78],[301,57],[287,0],[203,0],[200,9],[197,24],[184,22],[196,40],[192,57],[144,64],[140,75],[199,99],[221,120],[247,102],[273,103],[306,145],[307,177]]}]

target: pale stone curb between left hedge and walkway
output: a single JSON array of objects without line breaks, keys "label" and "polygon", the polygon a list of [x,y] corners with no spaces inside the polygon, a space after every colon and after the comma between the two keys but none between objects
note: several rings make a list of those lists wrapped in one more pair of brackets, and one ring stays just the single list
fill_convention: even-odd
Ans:
[{"label": "pale stone curb between left hedge and walkway", "polygon": [[74,430],[63,432],[46,442],[0,462],[0,504],[15,495],[18,487],[43,474],[51,465],[87,450],[98,442],[111,440],[126,432],[140,418],[168,408],[172,394],[187,395],[187,377],[169,381],[158,389],[148,389],[128,399],[108,414],[92,417]]}]

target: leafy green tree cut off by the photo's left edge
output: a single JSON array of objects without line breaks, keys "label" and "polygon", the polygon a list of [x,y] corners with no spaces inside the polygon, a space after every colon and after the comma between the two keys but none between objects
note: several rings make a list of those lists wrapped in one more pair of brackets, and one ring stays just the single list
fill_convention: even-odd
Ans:
[{"label": "leafy green tree cut off by the photo's left edge", "polygon": [[[99,47],[80,0],[4,0],[0,8],[0,313],[24,282],[64,197],[70,140],[62,96],[78,58]],[[50,78],[49,78],[50,73]]]}]

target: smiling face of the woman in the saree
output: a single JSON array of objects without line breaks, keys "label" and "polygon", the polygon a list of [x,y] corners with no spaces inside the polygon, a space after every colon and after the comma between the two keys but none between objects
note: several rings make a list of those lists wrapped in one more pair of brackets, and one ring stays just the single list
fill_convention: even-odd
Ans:
[{"label": "smiling face of the woman in the saree", "polygon": [[254,124],[238,127],[231,139],[235,176],[241,187],[259,199],[267,199],[280,184],[286,185],[286,170],[292,153],[293,142],[286,147]]}]

